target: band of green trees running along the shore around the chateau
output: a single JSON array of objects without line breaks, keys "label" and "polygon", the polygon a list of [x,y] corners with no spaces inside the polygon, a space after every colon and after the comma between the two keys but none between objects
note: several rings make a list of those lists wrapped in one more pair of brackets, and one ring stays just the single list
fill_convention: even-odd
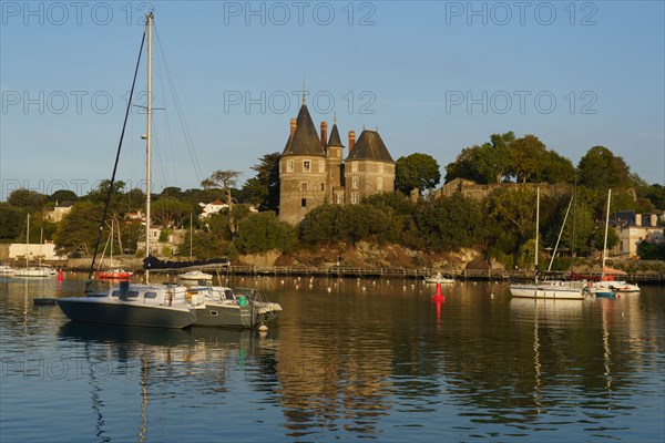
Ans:
[{"label": "band of green trees running along the shore around the chateau", "polygon": [[[446,166],[444,179],[513,183],[513,186],[498,186],[482,199],[462,195],[433,198],[431,190],[440,183],[440,167],[431,156],[416,153],[397,161],[395,193],[378,194],[358,205],[325,204],[313,209],[298,226],[291,226],[277,217],[278,158],[278,153],[259,158],[253,166],[256,175],[243,186],[238,186],[239,173],[216,171],[201,188],[164,188],[152,196],[152,223],[162,227],[165,238],[170,231],[188,228],[192,220],[192,253],[203,259],[235,258],[239,254],[267,250],[286,253],[320,244],[352,245],[366,240],[429,253],[477,247],[484,250],[488,258],[507,266],[521,266],[533,261],[535,233],[535,190],[525,184],[569,185],[570,192],[563,195],[542,195],[540,231],[543,247],[554,246],[575,189],[574,245],[572,219],[563,228],[561,241],[577,255],[602,248],[607,188],[612,188],[614,195],[612,212],[646,213],[665,207],[665,188],[659,184],[648,185],[631,173],[625,161],[606,147],[590,148],[575,167],[536,136],[518,138],[509,132],[493,134],[488,143],[462,150],[456,161]],[[0,240],[24,241],[25,215],[31,214],[32,243],[38,241],[39,235],[53,239],[61,254],[89,255],[96,240],[110,186],[109,181],[101,182],[98,188],[81,197],[70,190],[45,196],[34,190],[16,189],[7,202],[0,203]],[[421,195],[417,202],[406,197],[413,188]],[[145,193],[139,188],[125,189],[123,182],[116,182],[111,195],[108,227],[111,219],[117,222],[114,223],[116,227],[121,226],[121,241],[115,245],[114,253],[141,254],[136,243],[143,240],[143,226],[132,214],[143,209]],[[215,199],[227,203],[228,207],[201,219],[200,203]],[[57,202],[73,204],[60,223],[45,216]],[[615,235],[611,235],[610,246],[613,243],[616,243]],[[190,248],[181,247],[178,254],[188,256]]]}]

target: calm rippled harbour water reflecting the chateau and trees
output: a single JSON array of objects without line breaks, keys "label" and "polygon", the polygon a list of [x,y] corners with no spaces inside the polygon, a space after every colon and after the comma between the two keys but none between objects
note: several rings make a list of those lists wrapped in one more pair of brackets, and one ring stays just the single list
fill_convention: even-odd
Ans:
[{"label": "calm rippled harbour water reflecting the chateau and trees", "polygon": [[0,441],[665,441],[665,288],[511,300],[456,284],[235,279],[265,336],[70,322],[0,280]]}]

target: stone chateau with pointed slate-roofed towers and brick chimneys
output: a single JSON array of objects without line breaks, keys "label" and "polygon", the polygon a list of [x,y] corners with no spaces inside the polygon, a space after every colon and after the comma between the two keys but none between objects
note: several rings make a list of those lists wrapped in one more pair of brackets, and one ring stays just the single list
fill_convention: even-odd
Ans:
[{"label": "stone chateau with pointed slate-roofed towers and brick chimneys", "polygon": [[395,161],[377,131],[364,130],[358,141],[349,131],[348,154],[332,124],[321,122],[320,135],[305,97],[279,156],[279,218],[297,225],[313,208],[331,203],[357,204],[362,197],[395,189]]}]

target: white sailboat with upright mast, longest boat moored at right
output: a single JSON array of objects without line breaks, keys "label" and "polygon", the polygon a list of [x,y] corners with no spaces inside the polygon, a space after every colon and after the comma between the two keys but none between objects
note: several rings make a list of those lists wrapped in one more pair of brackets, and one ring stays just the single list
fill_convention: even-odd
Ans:
[{"label": "white sailboat with upright mast, longest boat moored at right", "polygon": [[[540,223],[540,188],[535,194],[535,275],[531,284],[512,284],[510,292],[520,298],[549,298],[564,300],[584,300],[587,292],[586,281],[539,280],[538,275],[538,240]],[[570,209],[570,206],[569,206]],[[567,216],[567,212],[566,212]],[[550,264],[551,266],[551,264]]]}]

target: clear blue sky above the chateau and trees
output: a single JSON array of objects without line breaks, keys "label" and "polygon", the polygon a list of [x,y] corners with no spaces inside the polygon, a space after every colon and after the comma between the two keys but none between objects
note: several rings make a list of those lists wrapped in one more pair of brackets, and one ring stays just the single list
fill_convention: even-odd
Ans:
[{"label": "clear blue sky above the chateau and trees", "polygon": [[[155,14],[153,192],[255,176],[303,90],[318,126],[378,128],[395,159],[513,131],[593,146],[665,184],[663,1],[0,1],[0,200],[111,177]],[[143,186],[145,65],[117,179]],[[346,155],[346,154],[345,154]]]}]

